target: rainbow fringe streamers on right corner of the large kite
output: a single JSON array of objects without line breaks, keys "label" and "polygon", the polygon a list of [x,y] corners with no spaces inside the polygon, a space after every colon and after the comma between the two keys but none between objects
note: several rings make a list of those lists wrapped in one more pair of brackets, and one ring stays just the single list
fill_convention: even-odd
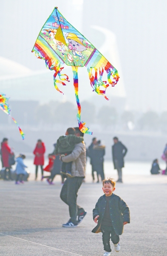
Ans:
[{"label": "rainbow fringe streamers on right corner of the large kite", "polygon": [[[118,80],[119,80],[119,75],[116,69],[114,70],[110,70],[110,68],[106,68],[105,67],[105,71],[107,73],[107,81],[102,81],[102,76],[104,73],[104,69],[103,67],[88,67],[88,74],[89,74],[89,79],[91,82],[91,87],[93,88],[93,91],[95,91],[97,94],[102,95],[103,97],[105,97],[105,99],[109,100],[106,96],[105,96],[105,90],[107,89],[107,87],[111,84],[112,86],[114,86],[115,84],[117,84]],[[94,75],[93,75],[94,73]],[[113,77],[112,81],[110,79],[110,77]]]}]

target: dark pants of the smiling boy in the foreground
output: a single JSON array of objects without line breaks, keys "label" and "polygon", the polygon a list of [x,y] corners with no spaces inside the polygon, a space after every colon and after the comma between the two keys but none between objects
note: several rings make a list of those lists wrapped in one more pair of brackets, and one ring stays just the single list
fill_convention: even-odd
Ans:
[{"label": "dark pants of the smiling boy in the foreground", "polygon": [[113,242],[113,244],[118,244],[119,236],[116,235],[113,227],[102,225],[101,231],[102,231],[102,241],[104,245],[104,250],[106,252],[111,252],[110,239]]}]

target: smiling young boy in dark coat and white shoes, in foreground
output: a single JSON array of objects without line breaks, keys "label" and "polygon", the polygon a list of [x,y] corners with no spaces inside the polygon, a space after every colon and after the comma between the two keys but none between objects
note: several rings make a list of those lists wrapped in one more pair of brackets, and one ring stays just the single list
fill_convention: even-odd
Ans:
[{"label": "smiling young boy in dark coat and white shoes, in foreground", "polygon": [[105,195],[99,198],[93,209],[93,220],[97,226],[92,232],[102,232],[103,256],[111,254],[110,239],[115,251],[119,252],[119,236],[123,233],[124,225],[130,223],[129,207],[118,195],[113,194],[115,185],[116,182],[111,178],[103,180],[102,190]]}]

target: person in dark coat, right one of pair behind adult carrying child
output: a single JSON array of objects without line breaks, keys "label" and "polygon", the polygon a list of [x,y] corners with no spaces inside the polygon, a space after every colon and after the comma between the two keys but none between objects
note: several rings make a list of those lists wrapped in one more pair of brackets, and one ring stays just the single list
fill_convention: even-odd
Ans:
[{"label": "person in dark coat, right one of pair behind adult carrying child", "polygon": [[105,146],[101,144],[101,141],[98,140],[96,145],[93,146],[94,157],[92,158],[92,167],[95,172],[97,172],[98,181],[99,175],[101,179],[105,179],[104,175],[104,155],[105,155]]}]

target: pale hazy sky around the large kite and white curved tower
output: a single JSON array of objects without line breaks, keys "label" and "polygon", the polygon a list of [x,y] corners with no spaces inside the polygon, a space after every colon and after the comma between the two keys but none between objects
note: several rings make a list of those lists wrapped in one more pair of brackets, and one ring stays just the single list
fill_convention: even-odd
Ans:
[{"label": "pale hazy sky around the large kite and white curved tower", "polygon": [[105,36],[91,26],[116,35],[127,109],[167,111],[166,0],[5,0],[1,3],[0,56],[31,70],[45,70],[44,61],[37,60],[31,49],[55,6],[97,48]]}]

